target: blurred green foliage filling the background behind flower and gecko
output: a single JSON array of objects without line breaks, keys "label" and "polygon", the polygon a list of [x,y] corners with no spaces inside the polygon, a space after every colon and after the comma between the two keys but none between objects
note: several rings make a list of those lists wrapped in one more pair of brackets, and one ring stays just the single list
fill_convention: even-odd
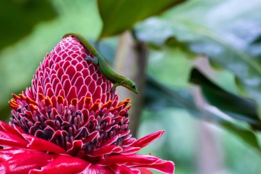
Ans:
[{"label": "blurred green foliage filling the background behind flower and gecko", "polygon": [[[181,1],[144,2],[5,2],[1,8],[9,13],[0,12],[1,21],[7,23],[0,29],[4,33],[0,41],[1,120],[8,121],[11,94],[30,86],[39,62],[63,34],[78,32],[94,40],[108,37],[99,50],[112,62],[117,36],[109,36],[129,29],[149,47],[139,136],[166,129],[158,142],[141,153],[174,161],[176,173],[197,173],[203,145],[200,129],[206,124],[201,120],[207,120],[218,125],[207,124],[222,153],[223,168],[216,172],[260,173],[261,156],[256,152],[260,152],[261,129],[261,2],[196,0],[179,6],[175,5]],[[195,62],[202,55],[218,72],[207,74],[205,65],[201,65],[205,72],[196,72]],[[195,83],[207,104],[195,100]]]}]

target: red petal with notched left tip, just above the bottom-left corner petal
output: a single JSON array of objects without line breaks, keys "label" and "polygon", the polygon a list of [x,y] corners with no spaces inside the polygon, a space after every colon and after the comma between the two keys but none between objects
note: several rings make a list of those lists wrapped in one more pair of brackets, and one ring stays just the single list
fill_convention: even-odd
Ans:
[{"label": "red petal with notched left tip, just above the bottom-left corner petal", "polygon": [[38,150],[38,151],[66,153],[65,149],[62,149],[60,146],[57,146],[52,142],[48,142],[47,140],[43,140],[41,138],[37,138],[28,134],[23,134],[23,137],[30,142],[30,144],[27,145],[27,148]]}]

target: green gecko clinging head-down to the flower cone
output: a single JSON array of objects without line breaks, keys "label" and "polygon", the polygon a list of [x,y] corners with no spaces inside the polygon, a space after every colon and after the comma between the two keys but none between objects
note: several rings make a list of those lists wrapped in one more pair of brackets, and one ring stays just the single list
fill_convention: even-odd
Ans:
[{"label": "green gecko clinging head-down to the flower cone", "polygon": [[65,38],[67,36],[76,37],[76,39],[78,39],[80,41],[80,43],[82,43],[82,45],[84,45],[84,47],[89,52],[91,52],[91,54],[94,56],[94,58],[92,58],[91,56],[88,56],[86,54],[87,57],[84,58],[84,60],[92,61],[95,65],[98,65],[100,67],[100,71],[102,72],[102,74],[104,76],[106,76],[106,78],[108,78],[111,81],[111,83],[113,83],[113,88],[112,88],[113,94],[114,94],[117,86],[123,86],[123,87],[126,87],[127,89],[135,92],[136,94],[138,93],[136,84],[131,79],[115,73],[113,71],[113,69],[111,69],[109,67],[109,65],[106,63],[102,54],[100,54],[100,52],[98,52],[95,49],[95,47],[93,47],[93,45],[91,45],[91,43],[89,43],[89,41],[87,41],[87,39],[84,38],[84,36],[77,34],[77,33],[67,33],[67,34],[65,34],[65,36],[63,36],[63,38]]}]

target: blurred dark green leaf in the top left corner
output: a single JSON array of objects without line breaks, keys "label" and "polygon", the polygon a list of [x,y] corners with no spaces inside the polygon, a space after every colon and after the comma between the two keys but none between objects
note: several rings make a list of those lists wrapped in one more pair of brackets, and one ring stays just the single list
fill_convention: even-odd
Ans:
[{"label": "blurred dark green leaf in the top left corner", "polygon": [[54,17],[56,10],[47,0],[1,1],[0,50],[30,34],[37,23]]}]

